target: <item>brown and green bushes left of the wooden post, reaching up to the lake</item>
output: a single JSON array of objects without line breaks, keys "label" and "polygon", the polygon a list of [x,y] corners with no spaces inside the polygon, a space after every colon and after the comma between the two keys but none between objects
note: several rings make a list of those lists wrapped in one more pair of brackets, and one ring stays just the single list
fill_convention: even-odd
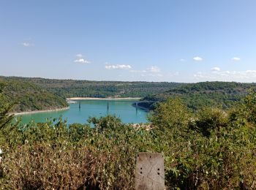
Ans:
[{"label": "brown and green bushes left of the wooden post, reaching up to the lake", "polygon": [[[91,120],[99,126],[106,118]],[[135,155],[148,148],[149,133],[113,116],[108,121],[116,127],[91,129],[75,123],[67,128],[65,121],[20,127],[16,148],[4,149],[1,187],[130,189]]]}]

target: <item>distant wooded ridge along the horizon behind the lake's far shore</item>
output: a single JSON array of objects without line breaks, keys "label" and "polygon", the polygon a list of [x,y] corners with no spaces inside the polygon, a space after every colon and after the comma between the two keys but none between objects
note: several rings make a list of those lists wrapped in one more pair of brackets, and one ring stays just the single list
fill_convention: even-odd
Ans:
[{"label": "distant wooded ridge along the horizon behind the lake's far shore", "polygon": [[122,82],[90,80],[56,80],[31,77],[1,77],[4,80],[18,80],[34,83],[53,94],[70,97],[144,97],[167,91],[181,83]]}]

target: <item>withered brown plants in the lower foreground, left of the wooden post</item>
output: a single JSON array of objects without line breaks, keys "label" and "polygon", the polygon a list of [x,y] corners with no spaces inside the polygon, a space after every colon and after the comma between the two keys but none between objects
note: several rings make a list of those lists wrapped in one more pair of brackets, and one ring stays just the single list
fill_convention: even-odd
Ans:
[{"label": "withered brown plants in the lower foreground, left of the wooden post", "polygon": [[[18,152],[17,152],[18,151]],[[132,158],[117,159],[118,148],[56,147],[34,144],[20,146],[8,153],[1,167],[7,189],[117,189],[132,186]],[[104,156],[103,156],[104,155]],[[7,161],[7,159],[10,159]],[[121,168],[125,167],[125,168]],[[131,171],[129,171],[131,170]],[[129,175],[127,175],[129,174]]]}]

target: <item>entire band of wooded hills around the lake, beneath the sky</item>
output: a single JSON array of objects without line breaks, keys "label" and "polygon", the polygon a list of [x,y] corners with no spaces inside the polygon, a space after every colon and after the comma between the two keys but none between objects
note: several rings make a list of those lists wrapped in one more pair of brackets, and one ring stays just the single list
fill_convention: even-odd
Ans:
[{"label": "entire band of wooded hills around the lake, beneath the sky", "polygon": [[121,81],[53,80],[31,77],[0,77],[7,83],[5,94],[17,103],[15,112],[67,107],[69,97],[143,97],[139,105],[154,110],[158,102],[178,96],[195,111],[211,106],[224,110],[246,96],[255,83],[148,83]]}]

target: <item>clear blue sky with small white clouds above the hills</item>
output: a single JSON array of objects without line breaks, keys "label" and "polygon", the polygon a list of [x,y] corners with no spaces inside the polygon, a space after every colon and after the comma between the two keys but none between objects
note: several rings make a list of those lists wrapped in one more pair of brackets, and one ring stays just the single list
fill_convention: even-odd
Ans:
[{"label": "clear blue sky with small white clouds above the hills", "polygon": [[0,1],[0,75],[256,82],[255,0]]}]

